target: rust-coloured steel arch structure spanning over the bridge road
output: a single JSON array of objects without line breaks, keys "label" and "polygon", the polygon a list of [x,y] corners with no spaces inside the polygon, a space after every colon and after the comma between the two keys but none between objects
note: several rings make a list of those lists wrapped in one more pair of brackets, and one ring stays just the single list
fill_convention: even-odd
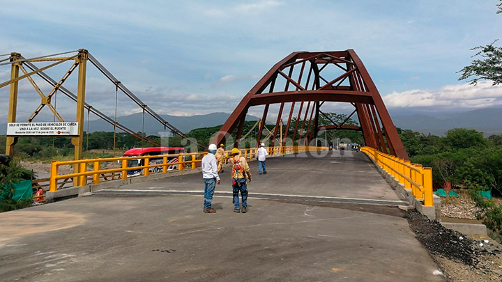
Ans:
[{"label": "rust-coloured steel arch structure spanning over the bridge road", "polygon": [[[326,67],[333,68],[333,66],[338,75],[329,77],[333,76],[333,71],[326,71],[328,69]],[[294,72],[295,67],[300,68],[299,72]],[[284,82],[284,79],[285,86],[276,89],[279,81]],[[344,120],[340,125],[333,123],[328,127],[325,126],[325,129],[360,130],[363,132],[366,146],[389,152],[402,159],[409,159],[377,86],[374,85],[363,62],[353,49],[335,52],[293,52],[283,58],[243,97],[211,143],[225,142],[227,136],[234,130],[237,130],[236,140],[238,140],[242,134],[245,116],[252,106],[265,105],[262,120],[266,120],[269,105],[280,104],[278,125],[284,103],[287,102],[291,102],[291,109],[286,132],[290,126],[294,127],[293,139],[296,141],[298,137],[298,143],[308,143],[317,136],[317,132],[322,128],[318,122],[319,113],[324,115],[320,109],[324,102],[349,102],[355,107],[351,116],[357,113],[360,126],[344,125],[347,121]],[[291,118],[294,116],[295,105],[298,104],[300,109],[297,121],[292,125]],[[303,122],[298,123],[302,117]],[[301,130],[296,136],[298,125],[301,125]],[[261,140],[263,127],[264,123],[261,123],[257,142]],[[275,128],[277,129],[277,126]],[[271,146],[274,146],[276,134],[277,130],[273,133]],[[237,142],[235,146],[238,146]]]}]

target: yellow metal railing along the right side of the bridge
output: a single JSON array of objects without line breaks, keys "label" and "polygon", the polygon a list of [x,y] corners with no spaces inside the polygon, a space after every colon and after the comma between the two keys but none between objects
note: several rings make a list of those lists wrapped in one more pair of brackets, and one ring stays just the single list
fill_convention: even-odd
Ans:
[{"label": "yellow metal railing along the right side of the bridge", "polygon": [[404,185],[404,188],[411,189],[411,193],[417,200],[423,200],[423,205],[434,205],[431,168],[423,167],[421,164],[411,164],[409,161],[370,147],[361,148],[361,152],[371,157],[384,171]]}]

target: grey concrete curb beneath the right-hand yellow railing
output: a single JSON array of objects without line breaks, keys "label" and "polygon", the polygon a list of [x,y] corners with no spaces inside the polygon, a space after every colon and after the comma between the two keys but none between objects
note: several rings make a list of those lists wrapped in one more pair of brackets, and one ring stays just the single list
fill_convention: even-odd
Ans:
[{"label": "grey concrete curb beneath the right-hand yellow railing", "polygon": [[365,152],[364,154],[372,161],[374,166],[377,168],[379,171],[380,175],[382,175],[383,178],[387,181],[387,183],[392,187],[393,189],[397,189],[397,191],[400,192],[404,198],[413,206],[416,208],[418,212],[421,214],[425,215],[427,218],[431,220],[437,220],[441,221],[441,198],[439,196],[433,195],[433,203],[434,206],[432,207],[427,207],[423,205],[423,200],[418,200],[413,196],[413,193],[411,193],[411,189],[406,189],[404,188],[403,185],[399,183],[399,181],[395,180],[390,174],[388,174],[386,171],[384,171],[378,164],[377,162],[374,161],[370,156],[368,156]]}]

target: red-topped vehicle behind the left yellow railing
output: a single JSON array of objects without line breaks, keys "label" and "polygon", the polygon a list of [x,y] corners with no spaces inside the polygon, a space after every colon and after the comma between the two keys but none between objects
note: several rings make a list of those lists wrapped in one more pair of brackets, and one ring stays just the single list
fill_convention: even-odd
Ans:
[{"label": "red-topped vehicle behind the left yellow railing", "polygon": [[[162,164],[162,157],[155,157],[155,156],[160,156],[160,155],[175,155],[179,153],[185,152],[185,148],[181,147],[175,147],[175,148],[168,148],[168,147],[148,147],[148,148],[134,148],[127,150],[124,152],[123,157],[144,157],[144,156],[152,156],[150,158],[150,165],[153,164]],[[176,163],[178,162],[178,157],[167,157],[167,163]],[[129,159],[128,160],[128,167],[135,167],[135,166],[144,166],[144,159]],[[170,166],[167,166],[167,171],[172,171],[178,169],[178,164],[172,164]],[[162,166],[155,166],[149,169],[150,172],[152,173],[157,173],[162,171]],[[137,175],[142,175],[144,174],[143,169],[132,169],[128,171],[128,177],[131,176],[137,176]]]}]

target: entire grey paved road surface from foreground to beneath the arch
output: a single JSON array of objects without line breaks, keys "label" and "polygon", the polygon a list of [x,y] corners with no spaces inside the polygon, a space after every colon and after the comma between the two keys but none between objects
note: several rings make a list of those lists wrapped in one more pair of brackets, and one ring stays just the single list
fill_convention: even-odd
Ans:
[{"label": "entire grey paved road surface from foreground to beneath the arch", "polygon": [[[374,191],[360,190],[372,187],[388,190],[377,197],[399,201],[363,155],[288,158],[268,160],[267,175],[254,171],[250,193],[370,200]],[[304,171],[306,165],[323,170]],[[134,188],[201,190],[200,177]],[[236,214],[231,198],[216,196],[218,212],[204,214],[197,195],[122,195],[96,194],[0,214],[0,280],[443,281],[397,207],[364,205],[377,214],[371,208],[360,212],[358,205],[347,210],[331,203],[250,198],[249,212]]]}]

